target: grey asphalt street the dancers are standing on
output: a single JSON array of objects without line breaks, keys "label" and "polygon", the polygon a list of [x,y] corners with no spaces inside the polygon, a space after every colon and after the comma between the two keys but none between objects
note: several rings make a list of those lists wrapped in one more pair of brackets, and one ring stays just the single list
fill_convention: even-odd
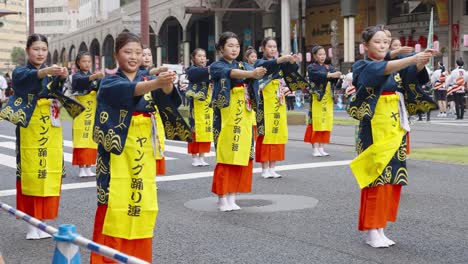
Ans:
[{"label": "grey asphalt street the dancers are standing on", "polygon": [[[339,118],[346,114],[337,112]],[[468,120],[433,118],[412,127],[413,148],[468,145]],[[209,167],[193,168],[186,144],[168,142],[167,176],[158,177],[155,263],[468,263],[468,166],[410,159],[398,220],[387,228],[396,241],[373,249],[357,231],[360,190],[349,169],[354,126],[336,125],[331,157],[312,157],[305,126],[290,126],[281,179],[263,179],[256,164],[243,210],[215,210]],[[53,226],[75,224],[91,238],[96,191],[92,178],[71,166],[70,123],[64,124],[67,177]],[[0,122],[0,200],[15,206],[14,127]],[[294,208],[294,210],[291,210]],[[52,240],[27,241],[26,224],[0,212],[0,251],[6,263],[50,263]],[[89,253],[81,250],[83,263]]]}]

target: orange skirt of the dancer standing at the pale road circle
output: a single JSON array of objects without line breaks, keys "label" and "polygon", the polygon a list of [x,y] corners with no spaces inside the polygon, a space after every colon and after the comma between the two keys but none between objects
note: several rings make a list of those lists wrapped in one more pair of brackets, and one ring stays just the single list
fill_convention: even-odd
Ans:
[{"label": "orange skirt of the dancer standing at the pale road circle", "polygon": [[252,191],[253,161],[247,166],[217,163],[211,191],[217,195]]}]

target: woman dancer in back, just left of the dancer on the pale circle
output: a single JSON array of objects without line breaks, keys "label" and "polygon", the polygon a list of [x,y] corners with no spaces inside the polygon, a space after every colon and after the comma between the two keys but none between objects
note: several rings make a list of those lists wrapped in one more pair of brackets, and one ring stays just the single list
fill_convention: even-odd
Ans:
[{"label": "woman dancer in back, just left of the dancer on the pale circle", "polygon": [[206,67],[206,51],[197,48],[192,54],[193,65],[187,69],[189,86],[185,96],[189,101],[189,123],[192,128],[192,142],[188,153],[192,154],[192,166],[208,166],[205,153],[209,153],[213,141],[213,109],[210,107],[212,85]]}]

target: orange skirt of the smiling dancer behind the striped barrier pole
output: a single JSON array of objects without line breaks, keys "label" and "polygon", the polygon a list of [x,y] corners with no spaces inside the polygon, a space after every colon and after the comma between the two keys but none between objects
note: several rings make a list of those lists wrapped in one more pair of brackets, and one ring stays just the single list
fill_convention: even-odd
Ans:
[{"label": "orange skirt of the smiling dancer behind the striped barrier pole", "polygon": [[[149,263],[153,260],[153,239],[133,239],[111,237],[102,234],[104,218],[106,217],[107,205],[98,205],[96,209],[96,218],[94,220],[93,241],[102,245],[106,245],[127,255],[137,257]],[[115,260],[105,258],[94,252],[91,253],[91,263],[118,263]]]}]

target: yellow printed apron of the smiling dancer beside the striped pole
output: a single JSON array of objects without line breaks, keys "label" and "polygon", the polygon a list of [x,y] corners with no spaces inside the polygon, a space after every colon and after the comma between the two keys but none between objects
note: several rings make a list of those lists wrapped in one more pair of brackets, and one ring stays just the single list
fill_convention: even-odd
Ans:
[{"label": "yellow printed apron of the smiling dancer beside the striped pole", "polygon": [[125,239],[153,237],[158,201],[151,129],[151,118],[133,116],[124,151],[110,156],[105,235]]}]

